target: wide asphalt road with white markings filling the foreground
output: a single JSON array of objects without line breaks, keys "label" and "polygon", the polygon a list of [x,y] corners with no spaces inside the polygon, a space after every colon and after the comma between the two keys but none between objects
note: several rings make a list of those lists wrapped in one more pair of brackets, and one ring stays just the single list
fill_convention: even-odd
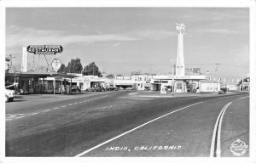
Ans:
[{"label": "wide asphalt road with white markings filling the foreground", "polygon": [[[216,142],[221,156],[234,156],[231,143],[239,138],[249,145],[248,96],[26,96],[6,105],[6,155],[210,156],[218,149],[212,143],[218,115],[231,102],[220,116]],[[243,156],[248,154],[249,147]]]}]

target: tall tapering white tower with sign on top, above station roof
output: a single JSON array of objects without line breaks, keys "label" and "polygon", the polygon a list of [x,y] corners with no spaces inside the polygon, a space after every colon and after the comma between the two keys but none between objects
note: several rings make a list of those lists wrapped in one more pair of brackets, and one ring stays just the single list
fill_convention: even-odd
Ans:
[{"label": "tall tapering white tower with sign on top, above station roof", "polygon": [[182,23],[177,23],[176,30],[178,33],[176,76],[185,76],[184,56],[183,56],[183,31],[185,31],[185,25]]}]

